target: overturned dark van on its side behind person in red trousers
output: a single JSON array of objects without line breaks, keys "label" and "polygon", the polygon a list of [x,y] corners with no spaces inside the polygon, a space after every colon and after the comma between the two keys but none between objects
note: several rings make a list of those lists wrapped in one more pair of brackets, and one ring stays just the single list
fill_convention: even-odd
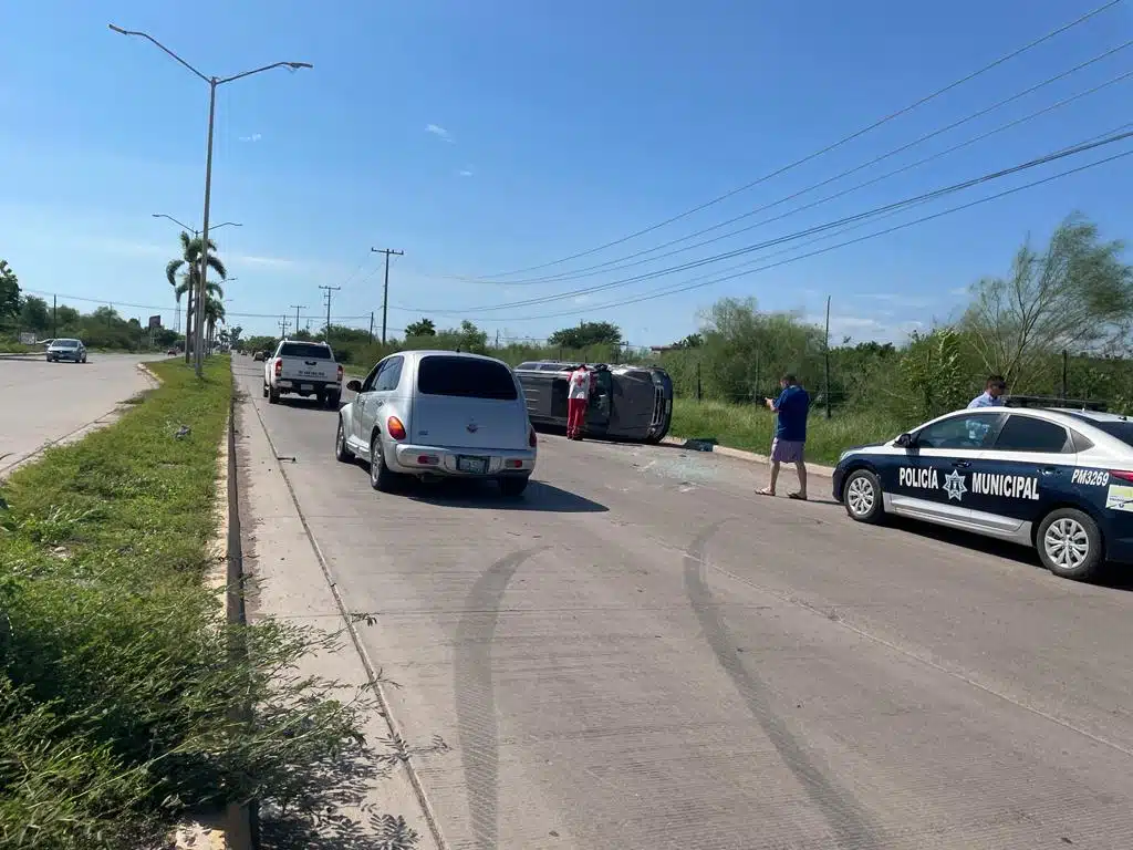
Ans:
[{"label": "overturned dark van on its side behind person in red trousers", "polygon": [[[566,427],[566,386],[576,363],[533,360],[516,367],[536,426]],[[598,364],[586,410],[587,436],[659,442],[673,419],[673,381],[655,366]]]}]

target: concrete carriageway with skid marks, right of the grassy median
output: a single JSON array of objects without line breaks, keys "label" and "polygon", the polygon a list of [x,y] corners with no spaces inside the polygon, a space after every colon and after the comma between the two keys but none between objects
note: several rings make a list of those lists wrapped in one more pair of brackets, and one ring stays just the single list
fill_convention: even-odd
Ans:
[{"label": "concrete carriageway with skid marks, right of the grassy median", "polygon": [[236,369],[449,848],[1133,847],[1133,593],[666,447],[382,495]]}]

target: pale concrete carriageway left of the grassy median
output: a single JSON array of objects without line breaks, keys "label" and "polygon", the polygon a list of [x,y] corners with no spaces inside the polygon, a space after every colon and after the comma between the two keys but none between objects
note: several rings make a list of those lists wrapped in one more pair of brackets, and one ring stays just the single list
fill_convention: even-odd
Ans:
[{"label": "pale concrete carriageway left of the grassy median", "polygon": [[163,357],[92,352],[83,365],[0,358],[0,474],[147,389],[137,364]]}]

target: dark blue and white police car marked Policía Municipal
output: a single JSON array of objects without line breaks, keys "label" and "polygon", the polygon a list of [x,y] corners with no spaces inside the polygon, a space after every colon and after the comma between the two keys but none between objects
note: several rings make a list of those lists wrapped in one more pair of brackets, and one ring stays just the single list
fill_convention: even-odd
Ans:
[{"label": "dark blue and white police car marked Polic\u00eda Municipal", "polygon": [[1006,402],[843,452],[834,498],[859,522],[896,515],[1034,546],[1065,578],[1133,563],[1133,422]]}]

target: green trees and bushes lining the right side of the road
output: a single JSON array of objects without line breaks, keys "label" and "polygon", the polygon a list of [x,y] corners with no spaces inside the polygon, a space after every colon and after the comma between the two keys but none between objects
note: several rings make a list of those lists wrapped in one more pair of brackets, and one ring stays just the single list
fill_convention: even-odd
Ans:
[{"label": "green trees and bushes lining the right side of the road", "polygon": [[[1128,410],[1131,328],[1133,266],[1124,261],[1124,245],[1072,215],[1045,245],[1024,241],[1004,274],[973,282],[954,318],[901,343],[846,338],[828,346],[821,326],[799,314],[764,312],[753,298],[718,300],[700,316],[698,332],[662,350],[629,347],[605,321],[559,330],[542,343],[497,346],[469,321],[437,329],[428,317],[385,346],[367,331],[339,325],[331,326],[330,340],[339,359],[358,371],[406,348],[491,354],[513,365],[653,363],[670,372],[679,398],[733,403],[773,394],[780,376],[793,372],[832,413],[877,410],[921,420],[966,403],[989,374],[1004,375],[1015,393],[1106,400]],[[267,350],[275,342],[255,337],[245,346]]]}]

